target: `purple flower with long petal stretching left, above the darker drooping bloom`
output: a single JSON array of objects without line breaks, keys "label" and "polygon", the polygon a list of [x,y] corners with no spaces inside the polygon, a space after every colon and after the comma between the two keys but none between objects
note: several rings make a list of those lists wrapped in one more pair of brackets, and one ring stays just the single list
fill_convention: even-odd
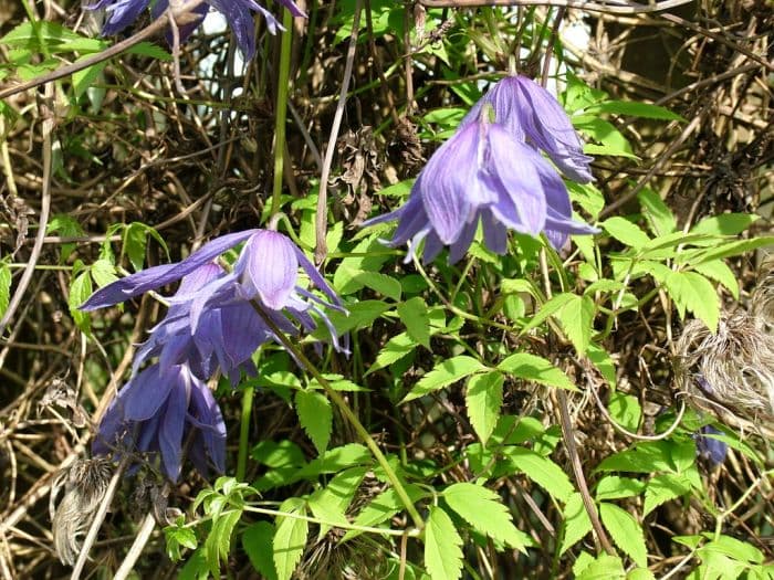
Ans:
[{"label": "purple flower with long petal stretching left, above the darker drooping bloom", "polygon": [[[240,242],[247,242],[231,273],[212,261]],[[299,267],[325,295],[324,299],[299,283]],[[94,310],[118,304],[150,289],[184,280],[172,296],[169,313],[143,347],[143,359],[160,356],[163,366],[182,360],[197,361],[192,368],[209,376],[213,360],[234,380],[239,368],[259,345],[278,337],[255,312],[259,304],[283,333],[297,334],[296,325],[306,331],[317,328],[312,314],[331,333],[337,350],[336,329],[321,307],[346,312],[341,299],[306,255],[285,235],[271,230],[248,230],[227,234],[205,244],[182,262],[154,266],[96,291],[81,305]],[[156,337],[154,337],[156,335]],[[139,366],[139,363],[137,365]]]}]

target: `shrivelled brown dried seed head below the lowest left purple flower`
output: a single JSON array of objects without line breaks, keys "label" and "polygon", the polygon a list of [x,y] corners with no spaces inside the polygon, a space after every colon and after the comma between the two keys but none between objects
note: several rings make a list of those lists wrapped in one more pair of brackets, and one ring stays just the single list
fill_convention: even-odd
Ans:
[{"label": "shrivelled brown dried seed head below the lowest left purple flower", "polygon": [[[77,460],[55,477],[51,487],[51,527],[54,549],[62,563],[75,563],[81,551],[79,538],[100,508],[112,476],[111,462],[94,458]],[[54,512],[53,505],[62,486],[64,496]]]}]

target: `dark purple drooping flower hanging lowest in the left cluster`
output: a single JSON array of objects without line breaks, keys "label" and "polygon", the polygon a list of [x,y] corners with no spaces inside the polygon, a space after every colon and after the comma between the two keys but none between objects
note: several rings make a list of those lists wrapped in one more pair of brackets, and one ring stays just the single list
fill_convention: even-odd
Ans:
[{"label": "dark purple drooping flower hanging lowest in the left cluster", "polygon": [[158,453],[164,472],[177,481],[182,445],[194,429],[189,456],[197,471],[206,476],[211,463],[222,473],[226,424],[209,388],[186,365],[166,370],[153,365],[132,379],[107,408],[92,452]]}]

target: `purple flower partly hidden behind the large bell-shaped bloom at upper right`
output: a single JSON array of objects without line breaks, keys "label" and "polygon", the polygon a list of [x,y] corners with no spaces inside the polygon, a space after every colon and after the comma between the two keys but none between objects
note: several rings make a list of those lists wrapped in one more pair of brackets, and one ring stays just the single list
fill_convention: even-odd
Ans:
[{"label": "purple flower partly hidden behind the large bell-shaped bloom at upper right", "polygon": [[494,120],[520,143],[545,151],[568,178],[578,183],[594,180],[583,143],[556,98],[526,76],[506,76],[470,109],[461,127],[480,118],[487,105]]}]

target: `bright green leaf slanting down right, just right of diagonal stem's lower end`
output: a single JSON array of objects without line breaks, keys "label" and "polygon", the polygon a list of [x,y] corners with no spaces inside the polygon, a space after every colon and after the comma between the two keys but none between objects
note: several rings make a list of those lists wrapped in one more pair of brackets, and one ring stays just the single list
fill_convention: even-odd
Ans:
[{"label": "bright green leaf slanting down right, just right of diagonal stem's lower end", "polygon": [[477,531],[525,551],[529,538],[516,529],[510,512],[491,489],[471,483],[458,483],[443,489],[443,498]]}]

